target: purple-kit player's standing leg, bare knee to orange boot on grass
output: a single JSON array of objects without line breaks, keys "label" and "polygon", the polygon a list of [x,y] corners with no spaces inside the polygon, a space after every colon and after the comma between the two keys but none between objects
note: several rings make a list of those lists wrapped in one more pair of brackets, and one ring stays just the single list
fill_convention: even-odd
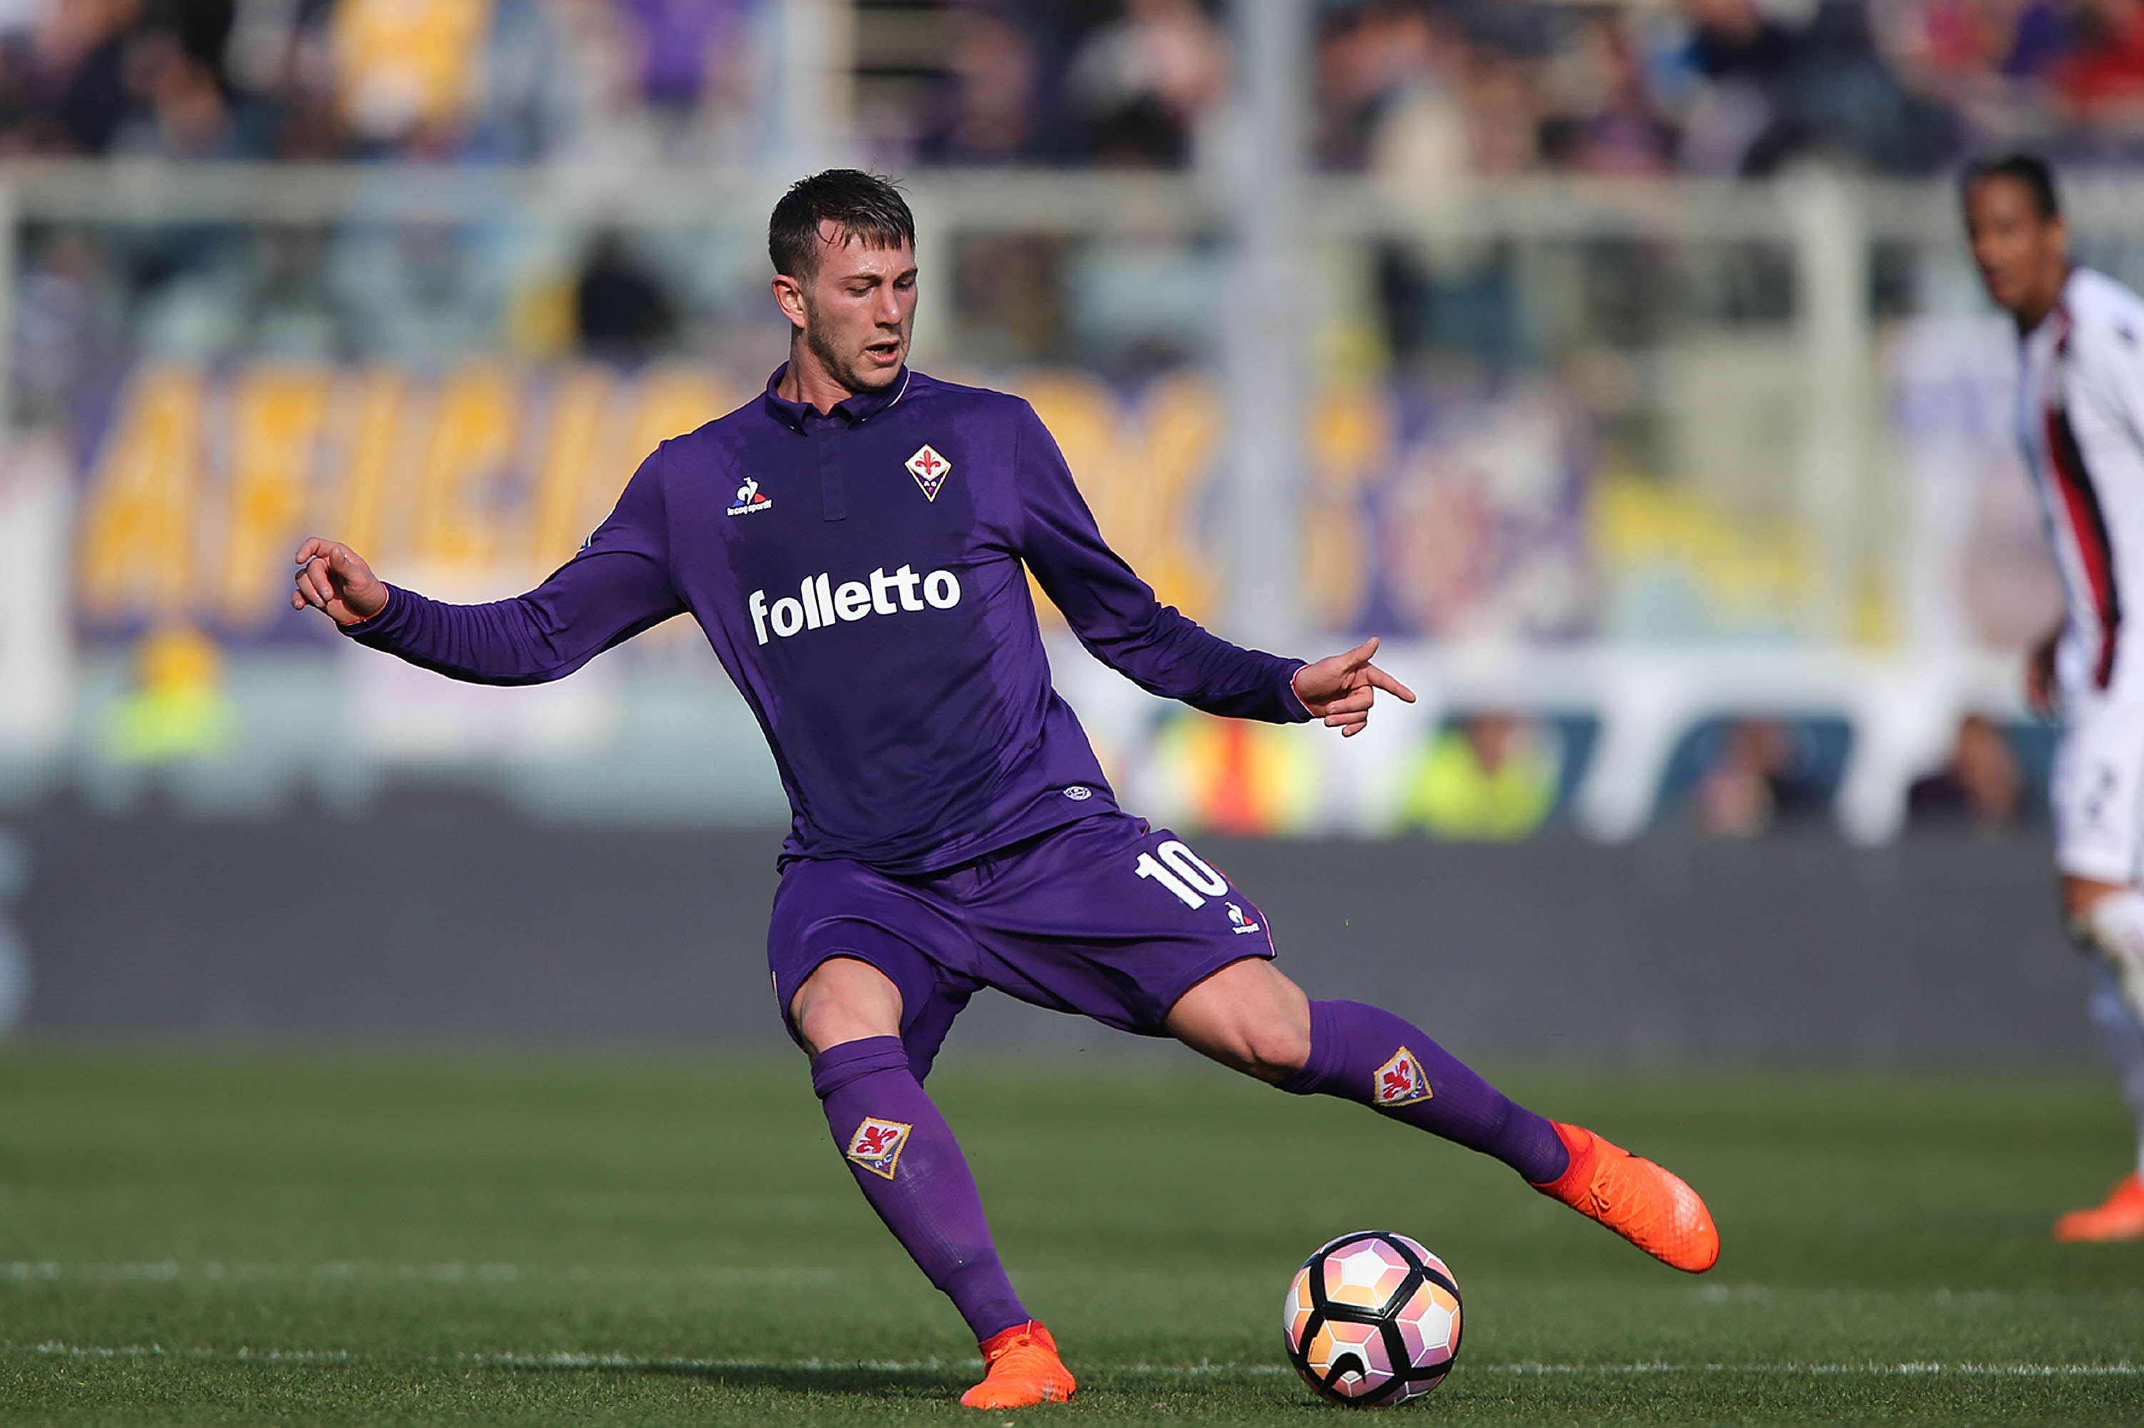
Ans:
[{"label": "purple-kit player's standing leg, bare knee to orange boot on grass", "polygon": [[988,1372],[961,1402],[1025,1409],[1070,1398],[1076,1383],[1051,1332],[1029,1319],[997,1259],[967,1156],[909,1068],[900,988],[877,967],[838,956],[804,980],[791,1018],[864,1199],[976,1334]]}]

